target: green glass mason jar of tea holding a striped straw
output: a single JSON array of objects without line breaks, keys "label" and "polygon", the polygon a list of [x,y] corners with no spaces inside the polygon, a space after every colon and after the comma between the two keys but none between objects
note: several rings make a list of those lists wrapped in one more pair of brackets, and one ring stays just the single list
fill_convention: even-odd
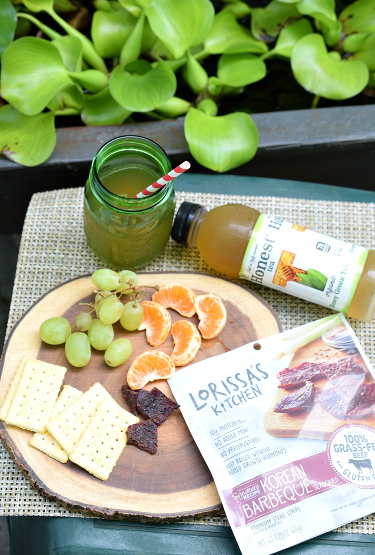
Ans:
[{"label": "green glass mason jar of tea holding a striped straw", "polygon": [[132,197],[170,170],[166,152],[145,137],[117,137],[96,153],[85,186],[84,226],[105,264],[135,270],[165,249],[176,204],[173,182],[145,198]]}]

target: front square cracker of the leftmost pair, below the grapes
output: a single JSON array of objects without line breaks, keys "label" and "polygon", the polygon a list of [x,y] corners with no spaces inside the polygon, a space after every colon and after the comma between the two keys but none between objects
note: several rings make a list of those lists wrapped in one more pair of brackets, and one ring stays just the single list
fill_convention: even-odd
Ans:
[{"label": "front square cracker of the leftmost pair, below the grapes", "polygon": [[[4,422],[44,432],[63,383],[66,368],[27,357],[14,387]],[[12,387],[11,387],[12,389]]]}]

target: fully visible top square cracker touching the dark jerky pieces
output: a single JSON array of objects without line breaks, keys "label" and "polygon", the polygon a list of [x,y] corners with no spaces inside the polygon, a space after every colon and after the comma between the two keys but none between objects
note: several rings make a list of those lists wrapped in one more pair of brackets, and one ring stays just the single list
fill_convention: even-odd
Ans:
[{"label": "fully visible top square cracker touching the dark jerky pieces", "polygon": [[139,418],[117,405],[114,398],[104,399],[70,453],[70,461],[100,480],[108,480],[126,445],[127,427],[136,422]]}]

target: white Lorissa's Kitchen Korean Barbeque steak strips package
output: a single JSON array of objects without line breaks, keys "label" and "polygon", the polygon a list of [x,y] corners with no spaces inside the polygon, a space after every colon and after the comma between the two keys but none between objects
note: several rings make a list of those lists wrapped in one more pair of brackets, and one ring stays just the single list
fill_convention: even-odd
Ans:
[{"label": "white Lorissa's Kitchen Korean Barbeque steak strips package", "polygon": [[374,371],[341,314],[168,380],[243,555],[268,555],[375,509]]}]

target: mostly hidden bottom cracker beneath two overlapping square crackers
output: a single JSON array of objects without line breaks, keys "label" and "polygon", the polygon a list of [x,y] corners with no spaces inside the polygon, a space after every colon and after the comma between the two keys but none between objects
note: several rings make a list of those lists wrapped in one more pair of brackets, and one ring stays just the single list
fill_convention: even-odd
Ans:
[{"label": "mostly hidden bottom cracker beneath two overlapping square crackers", "polygon": [[[64,385],[53,407],[51,418],[63,412],[65,408],[69,407],[71,403],[76,401],[81,395],[83,395],[83,393],[79,389],[71,385]],[[33,447],[39,449],[39,451],[43,451],[46,455],[55,458],[56,461],[65,463],[69,460],[68,453],[64,451],[61,445],[49,432],[35,432],[29,443]]]}]

